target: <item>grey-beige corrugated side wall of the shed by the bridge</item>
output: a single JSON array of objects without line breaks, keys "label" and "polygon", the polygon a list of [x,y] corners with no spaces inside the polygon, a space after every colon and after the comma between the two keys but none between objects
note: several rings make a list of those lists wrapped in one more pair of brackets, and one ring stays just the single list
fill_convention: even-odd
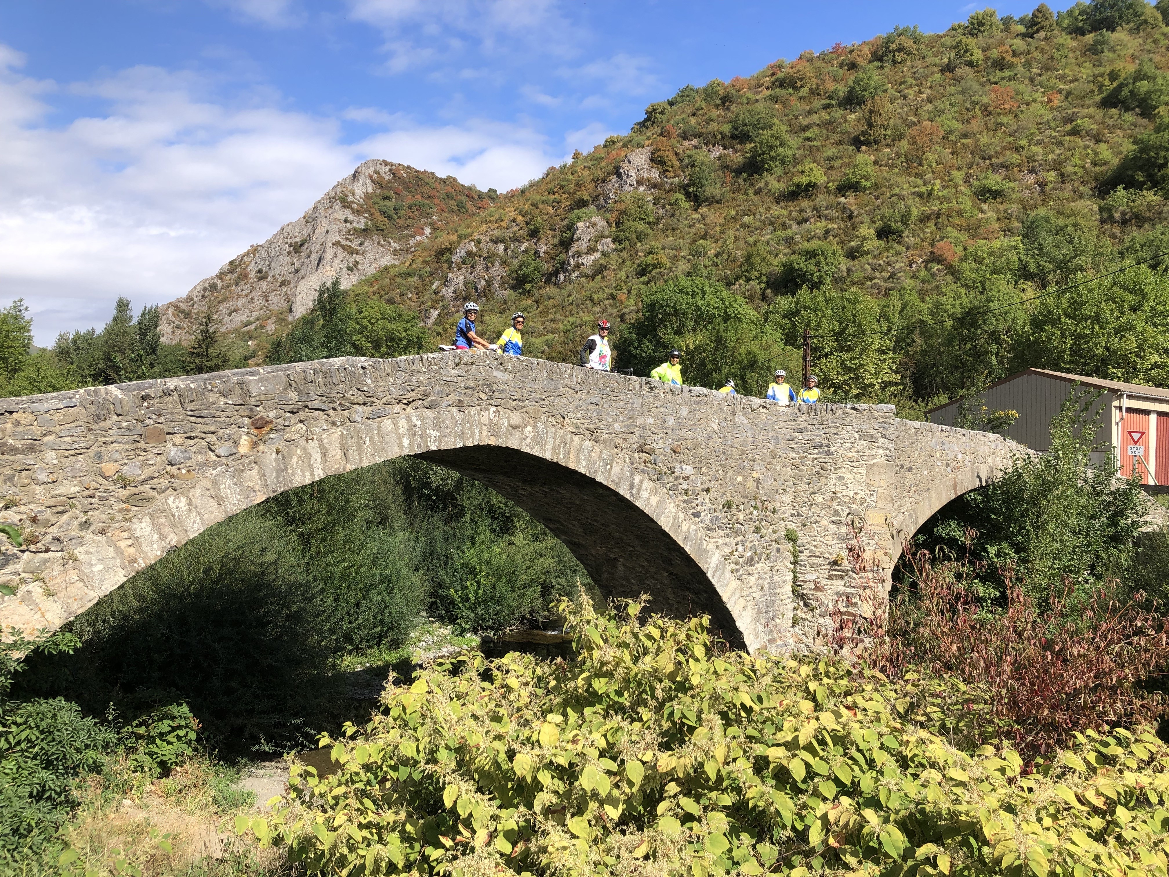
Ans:
[{"label": "grey-beige corrugated side wall of the shed by the bridge", "polygon": [[[1051,447],[1051,419],[1059,414],[1059,408],[1072,392],[1072,384],[1044,374],[1023,374],[1012,381],[991,387],[985,393],[974,398],[969,403],[970,414],[978,416],[981,406],[990,410],[1015,410],[1019,416],[1007,430],[1007,437],[1035,450],[1047,450]],[[1079,387],[1080,392],[1092,388]],[[1093,406],[1093,413],[1101,406],[1112,407],[1113,393],[1105,392]],[[981,405],[980,405],[981,402]],[[960,402],[950,402],[929,415],[933,423],[957,426]],[[1095,442],[1112,446],[1112,423],[1106,415],[1095,434]]]}]

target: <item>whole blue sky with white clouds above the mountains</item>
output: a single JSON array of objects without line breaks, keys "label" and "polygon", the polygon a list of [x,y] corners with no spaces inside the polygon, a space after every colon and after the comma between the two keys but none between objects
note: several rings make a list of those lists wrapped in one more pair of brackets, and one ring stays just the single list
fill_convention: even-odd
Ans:
[{"label": "whole blue sky with white clouds above the mountains", "polygon": [[49,344],[101,326],[118,295],[184,295],[366,158],[504,191],[686,83],[982,6],[4,4],[0,303],[23,297]]}]

